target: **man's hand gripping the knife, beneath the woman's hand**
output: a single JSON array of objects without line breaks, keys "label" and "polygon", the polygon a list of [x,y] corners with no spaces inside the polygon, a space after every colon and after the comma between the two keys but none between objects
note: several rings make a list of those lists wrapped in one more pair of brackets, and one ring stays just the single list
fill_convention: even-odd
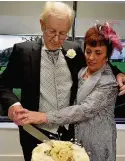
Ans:
[{"label": "man's hand gripping the knife, beneath the woman's hand", "polygon": [[8,117],[18,125],[19,116],[21,116],[23,113],[26,113],[27,111],[28,110],[24,109],[21,105],[14,105],[9,108]]}]

